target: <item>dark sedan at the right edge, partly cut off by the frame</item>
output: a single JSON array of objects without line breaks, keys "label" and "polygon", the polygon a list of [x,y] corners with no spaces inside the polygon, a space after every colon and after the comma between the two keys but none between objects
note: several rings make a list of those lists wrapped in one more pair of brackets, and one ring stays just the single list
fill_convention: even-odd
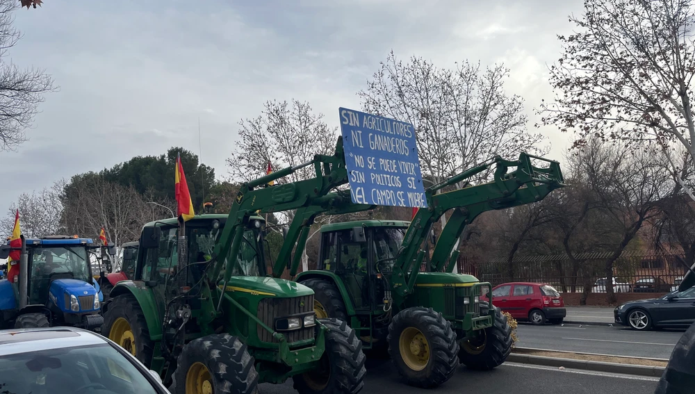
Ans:
[{"label": "dark sedan at the right edge, partly cut off by the frame", "polygon": [[615,322],[646,331],[653,327],[687,328],[695,322],[695,287],[664,297],[629,301],[614,309]]}]

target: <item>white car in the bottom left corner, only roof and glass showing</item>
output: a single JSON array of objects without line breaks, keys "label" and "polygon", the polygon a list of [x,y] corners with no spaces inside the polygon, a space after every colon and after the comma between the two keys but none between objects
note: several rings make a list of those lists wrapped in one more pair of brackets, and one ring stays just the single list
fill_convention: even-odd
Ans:
[{"label": "white car in the bottom left corner, only roof and glass showing", "polygon": [[129,352],[72,327],[0,331],[0,391],[51,394],[168,394]]}]

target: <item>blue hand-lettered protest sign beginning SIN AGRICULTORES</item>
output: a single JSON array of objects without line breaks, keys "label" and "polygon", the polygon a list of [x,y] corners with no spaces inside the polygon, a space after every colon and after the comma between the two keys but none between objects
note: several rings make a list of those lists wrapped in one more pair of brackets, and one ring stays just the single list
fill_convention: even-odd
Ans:
[{"label": "blue hand-lettered protest sign beginning SIN AGRICULTORES", "polygon": [[355,204],[427,207],[412,124],[338,108]]}]

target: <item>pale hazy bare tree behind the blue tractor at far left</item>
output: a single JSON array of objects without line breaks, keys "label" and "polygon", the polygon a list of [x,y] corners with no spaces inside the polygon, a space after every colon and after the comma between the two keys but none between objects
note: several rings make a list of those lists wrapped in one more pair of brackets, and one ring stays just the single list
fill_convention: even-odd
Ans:
[{"label": "pale hazy bare tree behind the blue tractor at far left", "polygon": [[12,233],[17,210],[19,210],[19,227],[27,238],[55,235],[63,231],[64,227],[60,223],[63,213],[60,193],[64,186],[65,181],[61,180],[50,188],[19,195],[17,202],[10,204],[8,214],[3,218],[3,236],[10,236]]}]

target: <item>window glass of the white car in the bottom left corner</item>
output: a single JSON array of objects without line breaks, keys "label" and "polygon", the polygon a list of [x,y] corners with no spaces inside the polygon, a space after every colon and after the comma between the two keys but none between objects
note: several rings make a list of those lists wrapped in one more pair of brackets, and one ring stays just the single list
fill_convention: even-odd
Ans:
[{"label": "window glass of the white car in the bottom left corner", "polygon": [[133,363],[111,345],[104,344],[0,356],[0,393],[154,394],[158,391]]}]

